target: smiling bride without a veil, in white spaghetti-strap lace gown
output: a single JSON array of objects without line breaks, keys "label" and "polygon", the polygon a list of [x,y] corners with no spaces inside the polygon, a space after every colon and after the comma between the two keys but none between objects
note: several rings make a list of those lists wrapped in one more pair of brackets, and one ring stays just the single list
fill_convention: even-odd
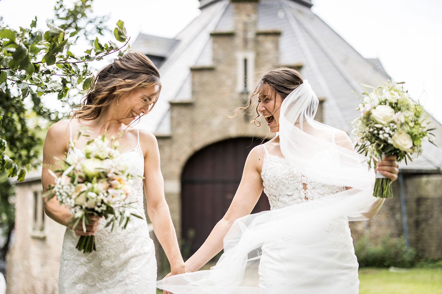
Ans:
[{"label": "smiling bride without a veil, in white spaghetti-strap lace gown", "polygon": [[[160,93],[160,74],[149,58],[138,51],[124,56],[99,71],[95,84],[88,92],[84,105],[73,118],[54,123],[48,130],[43,147],[42,184],[46,190],[54,179],[48,168],[56,166],[54,157],[63,159],[68,153],[81,153],[88,141],[73,135],[87,128],[92,138],[106,134],[119,139],[120,160],[129,166],[135,177],[133,196],[137,214],[145,218],[143,186],[147,212],[161,246],[171,264],[172,272],[184,272],[168,205],[164,199],[160,154],[156,138],[130,125],[147,114]],[[75,136],[76,138],[76,136]],[[70,210],[60,206],[54,197],[45,201],[45,212],[53,220],[65,225],[66,231],[60,261],[59,293],[131,293],[156,292],[156,259],[146,220],[132,218],[125,230],[111,231],[105,220],[90,215],[92,223],[84,232],[79,225],[72,230],[68,219]],[[79,236],[95,235],[96,251],[82,253],[76,249]]]}]

